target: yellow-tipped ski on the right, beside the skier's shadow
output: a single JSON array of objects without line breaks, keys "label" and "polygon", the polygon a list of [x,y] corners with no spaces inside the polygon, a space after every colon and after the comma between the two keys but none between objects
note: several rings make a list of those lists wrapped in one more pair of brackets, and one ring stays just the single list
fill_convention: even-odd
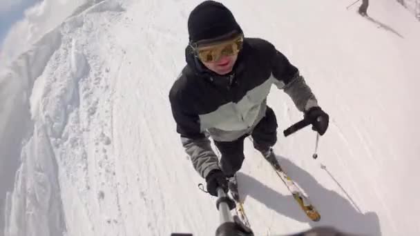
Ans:
[{"label": "yellow-tipped ski on the right, beside the skier's shadow", "polygon": [[321,219],[321,215],[316,210],[314,205],[309,201],[309,197],[305,196],[303,192],[298,188],[298,186],[294,183],[294,181],[285,173],[283,168],[276,168],[276,166],[271,165],[271,167],[276,171],[276,174],[280,179],[283,181],[287,189],[289,189],[290,193],[292,193],[294,199],[299,204],[300,208],[303,212],[312,219],[314,222],[318,222]]}]

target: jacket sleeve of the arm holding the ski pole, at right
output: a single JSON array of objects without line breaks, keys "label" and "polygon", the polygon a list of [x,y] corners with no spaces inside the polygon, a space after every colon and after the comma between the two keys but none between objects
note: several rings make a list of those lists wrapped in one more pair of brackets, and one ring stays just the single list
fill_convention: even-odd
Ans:
[{"label": "jacket sleeve of the arm holding the ski pole, at right", "polygon": [[300,111],[309,110],[318,106],[315,95],[307,86],[299,70],[289,62],[281,52],[274,48],[274,56],[271,60],[272,75],[276,78],[276,86],[283,89],[294,101],[296,108]]}]

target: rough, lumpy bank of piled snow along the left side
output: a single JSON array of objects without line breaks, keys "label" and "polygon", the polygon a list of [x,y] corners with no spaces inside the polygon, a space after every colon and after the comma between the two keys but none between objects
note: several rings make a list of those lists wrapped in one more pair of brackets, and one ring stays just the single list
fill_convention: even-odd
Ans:
[{"label": "rough, lumpy bank of piled snow along the left side", "polygon": [[[14,189],[6,197],[5,235],[65,235],[68,229],[61,201],[66,197],[61,196],[60,186],[82,181],[83,186],[76,185],[76,189],[83,193],[88,188],[86,179],[78,179],[77,175],[82,171],[87,178],[88,174],[83,143],[86,131],[83,121],[88,119],[81,121],[81,117],[93,116],[98,110],[99,98],[95,98],[89,86],[90,82],[98,84],[101,80],[97,72],[92,75],[90,63],[95,56],[88,55],[92,53],[88,41],[96,40],[102,32],[93,22],[103,22],[101,30],[106,30],[111,27],[110,19],[116,21],[124,8],[117,1],[108,0],[78,10],[79,14],[42,37],[2,72],[0,96],[5,101],[2,115],[6,114],[6,119],[1,120],[0,128],[10,131],[1,132],[1,140],[10,139],[10,128],[22,125],[14,118],[19,117],[19,113],[29,115],[30,108],[30,117],[26,116],[29,127],[14,133],[16,144],[0,149],[1,157],[4,150],[10,153],[5,153],[5,157],[11,153],[21,157]],[[86,31],[91,32],[88,37],[78,36]],[[100,65],[94,62],[94,66],[99,70]],[[3,84],[12,90],[3,90],[6,88]],[[111,140],[101,134],[98,139],[109,145]],[[22,140],[23,147],[19,144]],[[61,173],[59,166],[63,165],[68,168]],[[60,175],[66,177],[60,178]],[[70,183],[66,183],[67,179]],[[73,207],[67,205],[68,209]]]}]

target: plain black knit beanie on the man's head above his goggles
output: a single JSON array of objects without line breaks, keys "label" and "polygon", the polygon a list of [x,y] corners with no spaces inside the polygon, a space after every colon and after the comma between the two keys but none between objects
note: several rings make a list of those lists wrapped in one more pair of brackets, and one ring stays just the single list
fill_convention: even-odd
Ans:
[{"label": "plain black knit beanie on the man's head above his goggles", "polygon": [[233,30],[242,33],[242,29],[232,12],[216,1],[204,1],[196,6],[188,18],[189,41],[214,39]]}]

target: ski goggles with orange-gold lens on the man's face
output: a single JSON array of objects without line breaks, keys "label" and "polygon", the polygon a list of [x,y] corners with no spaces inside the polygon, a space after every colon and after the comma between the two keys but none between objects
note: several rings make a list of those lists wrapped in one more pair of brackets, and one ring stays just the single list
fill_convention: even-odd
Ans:
[{"label": "ski goggles with orange-gold lens on the man's face", "polygon": [[193,48],[195,55],[204,63],[216,62],[222,56],[237,55],[242,49],[244,42],[243,35],[233,39],[217,43],[200,43],[200,46]]}]

